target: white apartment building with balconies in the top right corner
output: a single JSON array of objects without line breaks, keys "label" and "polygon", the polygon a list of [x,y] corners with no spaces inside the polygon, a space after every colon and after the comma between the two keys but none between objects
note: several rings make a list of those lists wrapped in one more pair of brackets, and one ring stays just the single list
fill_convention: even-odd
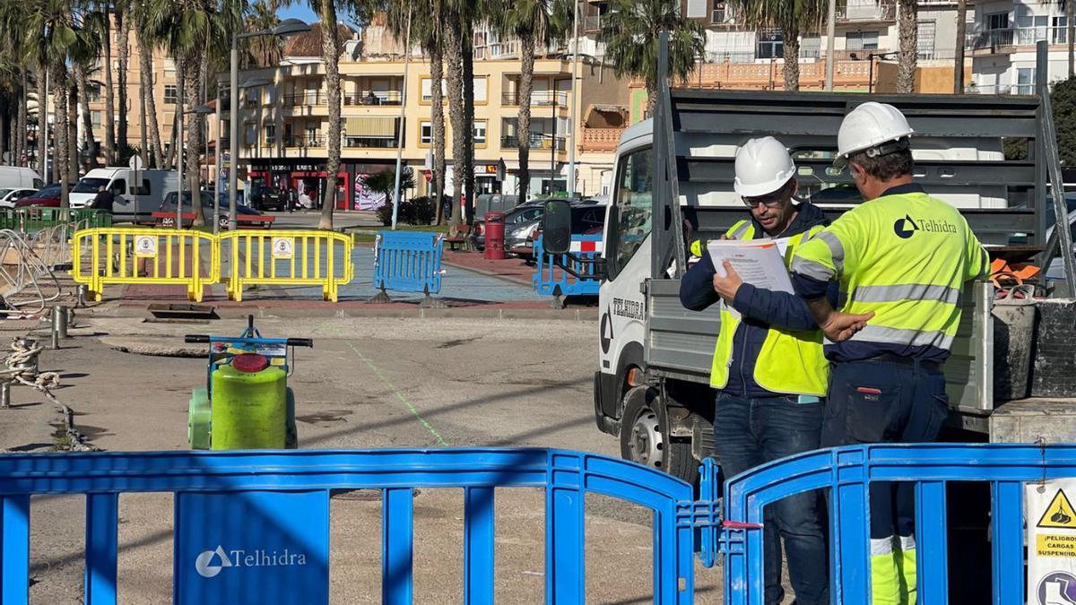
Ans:
[{"label": "white apartment building with balconies in the top right corner", "polygon": [[[971,12],[971,10],[968,11]],[[1025,0],[975,3],[968,28],[973,82],[968,90],[997,95],[1030,95],[1035,84],[1035,44],[1050,43],[1049,80],[1068,76],[1065,5]]]}]

